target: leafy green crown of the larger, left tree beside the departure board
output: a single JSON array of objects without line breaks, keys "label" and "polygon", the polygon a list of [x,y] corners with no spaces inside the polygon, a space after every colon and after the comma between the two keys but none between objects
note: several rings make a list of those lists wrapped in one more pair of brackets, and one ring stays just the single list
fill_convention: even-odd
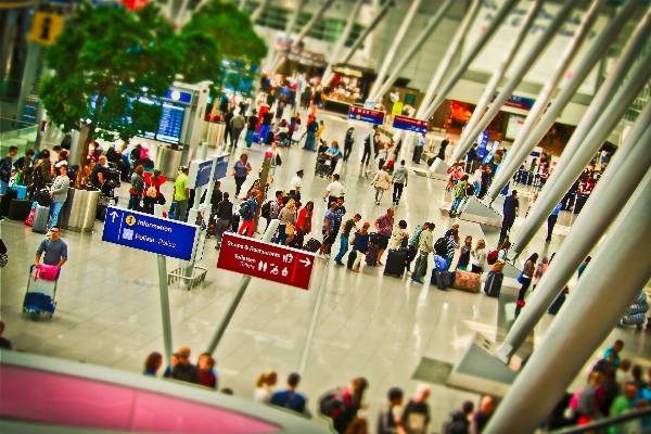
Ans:
[{"label": "leafy green crown of the larger, left tree beside the departure board", "polygon": [[163,94],[183,54],[153,2],[138,12],[82,2],[47,52],[54,75],[42,80],[39,93],[50,119],[65,131],[90,119],[87,142],[97,129],[128,139],[155,130],[162,112],[159,104],[130,101]]}]

